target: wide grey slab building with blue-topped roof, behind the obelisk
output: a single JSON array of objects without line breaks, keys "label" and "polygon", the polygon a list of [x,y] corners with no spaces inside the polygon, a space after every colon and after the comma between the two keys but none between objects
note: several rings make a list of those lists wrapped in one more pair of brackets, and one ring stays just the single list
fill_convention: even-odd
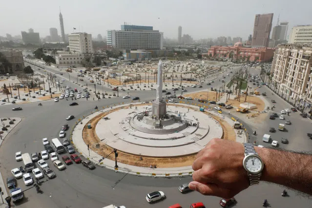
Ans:
[{"label": "wide grey slab building with blue-topped roof, behind the obelisk", "polygon": [[121,30],[107,31],[107,48],[161,49],[161,37],[152,26],[121,25]]}]

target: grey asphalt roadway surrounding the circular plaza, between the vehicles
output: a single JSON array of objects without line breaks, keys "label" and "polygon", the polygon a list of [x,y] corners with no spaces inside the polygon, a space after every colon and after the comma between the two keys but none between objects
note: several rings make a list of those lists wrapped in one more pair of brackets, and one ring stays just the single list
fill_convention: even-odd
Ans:
[{"label": "grey asphalt roadway surrounding the circular plaza, between the vehicles", "polygon": [[[229,79],[229,78],[227,78]],[[65,84],[65,83],[64,83]],[[216,83],[217,85],[222,83]],[[210,86],[208,86],[210,87]],[[202,89],[187,88],[188,92]],[[259,91],[267,90],[262,87]],[[179,91],[180,92],[180,91]],[[131,96],[138,96],[142,101],[151,100],[155,96],[148,91],[131,91]],[[271,94],[268,91],[268,99]],[[177,95],[178,92],[177,92]],[[276,110],[290,108],[278,96],[273,96],[277,104]],[[10,170],[21,166],[21,162],[16,162],[14,153],[22,151],[32,153],[42,151],[42,138],[49,139],[58,137],[63,124],[72,126],[76,120],[65,121],[67,115],[75,115],[76,118],[90,113],[95,105],[101,106],[120,103],[125,101],[122,98],[101,99],[100,101],[86,101],[77,99],[78,106],[69,106],[72,101],[60,100],[42,102],[43,106],[35,104],[21,105],[22,111],[12,111],[13,105],[0,106],[1,117],[21,117],[22,121],[6,137],[1,145],[0,170],[5,178],[11,175]],[[281,145],[282,148],[311,150],[312,140],[308,139],[306,133],[309,131],[311,121],[299,117],[299,113],[291,113],[290,120],[293,123],[287,126],[288,132],[271,133],[272,138],[280,141],[279,137],[285,136],[290,140],[289,145]],[[286,116],[288,119],[288,116]],[[270,125],[278,125],[279,121],[265,122],[257,129],[257,140],[261,140],[263,133],[268,132]],[[276,127],[277,128],[277,127]],[[265,144],[266,146],[270,146]],[[57,177],[42,184],[42,194],[37,194],[35,188],[25,192],[25,199],[18,204],[21,208],[102,208],[109,204],[125,205],[127,208],[166,208],[175,203],[180,203],[183,207],[189,207],[191,203],[203,202],[206,207],[219,208],[218,197],[202,196],[197,192],[181,194],[178,186],[191,181],[191,177],[183,178],[151,178],[137,177],[130,174],[116,173],[106,168],[97,167],[95,170],[88,170],[81,164],[67,166],[66,170],[59,171],[48,161],[49,166],[55,171]],[[45,177],[44,180],[47,178]],[[24,190],[22,179],[18,180],[18,185]],[[250,187],[239,193],[235,198],[239,208],[262,207],[264,199],[268,199],[271,207],[312,207],[312,202],[306,198],[298,196],[289,190],[290,197],[282,197],[280,194],[284,188],[272,184],[261,183],[258,186]],[[149,205],[145,196],[148,192],[162,190],[167,198],[164,201]]]}]

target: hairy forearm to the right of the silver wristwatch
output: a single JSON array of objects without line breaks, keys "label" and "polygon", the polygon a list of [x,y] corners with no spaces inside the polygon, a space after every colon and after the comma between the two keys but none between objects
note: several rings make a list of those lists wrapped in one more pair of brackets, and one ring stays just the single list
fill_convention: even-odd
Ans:
[{"label": "hairy forearm to the right of the silver wristwatch", "polygon": [[312,155],[255,147],[265,166],[261,180],[312,195]]}]

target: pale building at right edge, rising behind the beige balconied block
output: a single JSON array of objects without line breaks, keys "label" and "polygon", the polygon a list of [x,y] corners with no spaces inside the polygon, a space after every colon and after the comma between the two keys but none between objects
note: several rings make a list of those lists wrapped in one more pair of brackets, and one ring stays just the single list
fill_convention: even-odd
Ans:
[{"label": "pale building at right edge, rising behind the beige balconied block", "polygon": [[312,44],[312,25],[298,25],[291,29],[288,43]]}]

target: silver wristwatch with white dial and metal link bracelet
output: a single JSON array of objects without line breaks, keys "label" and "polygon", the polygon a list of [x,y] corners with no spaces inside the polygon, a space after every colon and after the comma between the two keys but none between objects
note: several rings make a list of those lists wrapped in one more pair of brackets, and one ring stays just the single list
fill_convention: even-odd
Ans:
[{"label": "silver wristwatch with white dial and metal link bracelet", "polygon": [[260,182],[261,172],[264,164],[254,147],[250,143],[243,143],[245,149],[245,158],[243,166],[248,173],[250,185],[256,185]]}]

